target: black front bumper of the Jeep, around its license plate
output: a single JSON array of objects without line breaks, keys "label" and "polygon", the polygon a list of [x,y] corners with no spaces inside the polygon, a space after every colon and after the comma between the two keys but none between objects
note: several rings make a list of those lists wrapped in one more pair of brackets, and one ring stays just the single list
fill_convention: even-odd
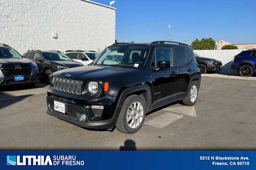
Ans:
[{"label": "black front bumper of the Jeep, around its license plate", "polygon": [[[58,100],[62,99],[62,100]],[[96,109],[92,109],[92,104],[72,104],[70,101],[62,98],[62,97],[53,97],[47,96],[47,110],[46,113],[57,117],[61,120],[67,121],[79,127],[89,128],[89,129],[109,129],[114,127],[117,119],[117,113],[120,111],[120,107],[116,107],[113,111],[113,115],[110,119],[104,119],[104,112],[106,109],[102,110],[101,116],[98,114],[100,111]],[[54,110],[54,101],[61,102],[65,104],[65,113],[61,113],[59,111]],[[108,109],[107,109],[108,110]],[[112,111],[109,111],[112,112]],[[86,120],[82,119],[82,115],[86,115]],[[99,115],[97,117],[96,115]]]}]

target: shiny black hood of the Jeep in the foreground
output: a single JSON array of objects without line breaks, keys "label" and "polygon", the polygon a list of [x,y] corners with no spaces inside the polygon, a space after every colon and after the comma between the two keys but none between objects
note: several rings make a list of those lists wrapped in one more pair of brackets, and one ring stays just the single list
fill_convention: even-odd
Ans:
[{"label": "shiny black hood of the Jeep in the foreground", "polygon": [[105,78],[111,76],[118,76],[136,71],[138,71],[137,68],[121,68],[113,66],[81,66],[57,71],[53,74],[53,76],[60,76],[77,80],[104,80]]}]

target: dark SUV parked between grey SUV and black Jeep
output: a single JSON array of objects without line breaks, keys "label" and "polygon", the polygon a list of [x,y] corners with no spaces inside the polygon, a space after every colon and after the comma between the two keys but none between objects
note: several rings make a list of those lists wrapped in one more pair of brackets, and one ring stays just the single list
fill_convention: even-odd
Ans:
[{"label": "dark SUV parked between grey SUV and black Jeep", "polygon": [[82,66],[81,63],[73,61],[60,51],[28,50],[22,56],[36,63],[41,78],[45,78],[48,84],[52,80],[52,73],[66,68]]}]

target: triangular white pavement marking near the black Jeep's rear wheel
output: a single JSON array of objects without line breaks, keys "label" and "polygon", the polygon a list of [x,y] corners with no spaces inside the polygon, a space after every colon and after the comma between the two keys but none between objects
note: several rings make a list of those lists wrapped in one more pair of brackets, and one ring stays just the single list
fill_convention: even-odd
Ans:
[{"label": "triangular white pavement marking near the black Jeep's rear wheel", "polygon": [[182,115],[197,117],[196,109],[194,106],[167,107],[167,108],[164,108],[163,110],[170,111],[172,113],[178,113]]}]

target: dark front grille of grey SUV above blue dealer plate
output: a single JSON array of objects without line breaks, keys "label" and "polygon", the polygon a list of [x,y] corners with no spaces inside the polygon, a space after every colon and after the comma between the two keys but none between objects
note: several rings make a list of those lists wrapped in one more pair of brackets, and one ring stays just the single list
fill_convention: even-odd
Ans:
[{"label": "dark front grille of grey SUV above blue dealer plate", "polygon": [[29,64],[5,64],[1,70],[6,77],[18,75],[31,76],[32,72]]}]

